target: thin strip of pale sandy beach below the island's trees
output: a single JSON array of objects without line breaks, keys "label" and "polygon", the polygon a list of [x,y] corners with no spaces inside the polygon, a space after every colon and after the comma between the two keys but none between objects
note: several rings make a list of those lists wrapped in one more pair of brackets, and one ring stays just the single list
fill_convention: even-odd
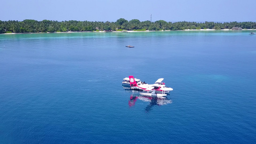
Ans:
[{"label": "thin strip of pale sandy beach below the island's trees", "polygon": [[[256,29],[242,29],[242,31],[254,31]],[[166,31],[218,31],[218,30],[215,30],[215,29],[185,29],[185,30],[161,30],[161,31],[149,31],[149,30],[146,30],[146,31],[125,31],[125,32],[122,32],[122,31],[112,31],[112,33],[134,33],[134,32],[166,32]],[[240,31],[240,30],[232,30],[232,29],[221,29],[220,31]],[[0,35],[15,35],[15,34],[61,34],[61,33],[108,33],[108,32],[105,32],[105,31],[99,31],[99,32],[90,32],[90,31],[86,31],[86,32],[53,32],[53,33],[50,33],[50,32],[47,32],[47,33],[5,33],[5,34],[0,34]]]}]

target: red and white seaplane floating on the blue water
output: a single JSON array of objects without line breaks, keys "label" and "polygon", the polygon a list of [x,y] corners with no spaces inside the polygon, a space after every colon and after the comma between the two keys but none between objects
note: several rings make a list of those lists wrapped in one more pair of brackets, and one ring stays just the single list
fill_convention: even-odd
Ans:
[{"label": "red and white seaplane floating on the blue water", "polygon": [[[165,94],[165,93],[170,93],[170,91],[172,91],[173,89],[171,87],[167,87],[165,86],[165,83],[163,83],[163,78],[158,79],[155,84],[146,84],[145,82],[142,83],[139,79],[135,79],[134,76],[130,75],[129,79],[128,78],[124,78],[122,84],[124,83],[130,83],[129,88],[132,90],[144,90],[144,91],[148,91],[151,92],[149,94],[146,95],[152,95],[156,94],[156,93],[161,93],[161,94]],[[150,87],[150,88],[149,88]],[[153,88],[151,88],[153,87]],[[149,88],[150,90],[147,90],[147,88]]]}]

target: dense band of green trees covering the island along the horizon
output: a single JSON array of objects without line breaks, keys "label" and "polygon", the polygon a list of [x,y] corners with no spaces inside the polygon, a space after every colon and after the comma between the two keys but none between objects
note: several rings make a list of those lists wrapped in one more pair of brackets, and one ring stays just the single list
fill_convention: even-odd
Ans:
[{"label": "dense band of green trees covering the island along the horizon", "polygon": [[84,32],[84,31],[122,31],[122,30],[184,30],[184,29],[232,29],[232,27],[241,27],[243,29],[256,29],[255,22],[230,22],[230,23],[195,23],[195,22],[166,22],[159,20],[156,22],[137,19],[127,21],[123,18],[116,22],[88,22],[88,21],[0,21],[0,34],[2,33],[46,33],[46,32]]}]

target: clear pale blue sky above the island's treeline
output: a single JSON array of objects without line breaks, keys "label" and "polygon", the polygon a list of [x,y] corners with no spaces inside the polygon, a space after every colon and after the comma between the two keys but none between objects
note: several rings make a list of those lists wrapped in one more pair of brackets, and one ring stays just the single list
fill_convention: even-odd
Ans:
[{"label": "clear pale blue sky above the island's treeline", "polygon": [[0,20],[256,22],[256,0],[1,0]]}]

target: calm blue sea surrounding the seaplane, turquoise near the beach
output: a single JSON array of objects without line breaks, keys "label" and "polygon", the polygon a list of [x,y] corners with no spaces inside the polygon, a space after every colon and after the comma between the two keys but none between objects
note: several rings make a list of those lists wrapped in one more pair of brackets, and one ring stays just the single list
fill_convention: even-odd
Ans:
[{"label": "calm blue sea surrounding the seaplane, turquoise near the beach", "polygon": [[255,144],[250,32],[0,35],[0,144]]}]

